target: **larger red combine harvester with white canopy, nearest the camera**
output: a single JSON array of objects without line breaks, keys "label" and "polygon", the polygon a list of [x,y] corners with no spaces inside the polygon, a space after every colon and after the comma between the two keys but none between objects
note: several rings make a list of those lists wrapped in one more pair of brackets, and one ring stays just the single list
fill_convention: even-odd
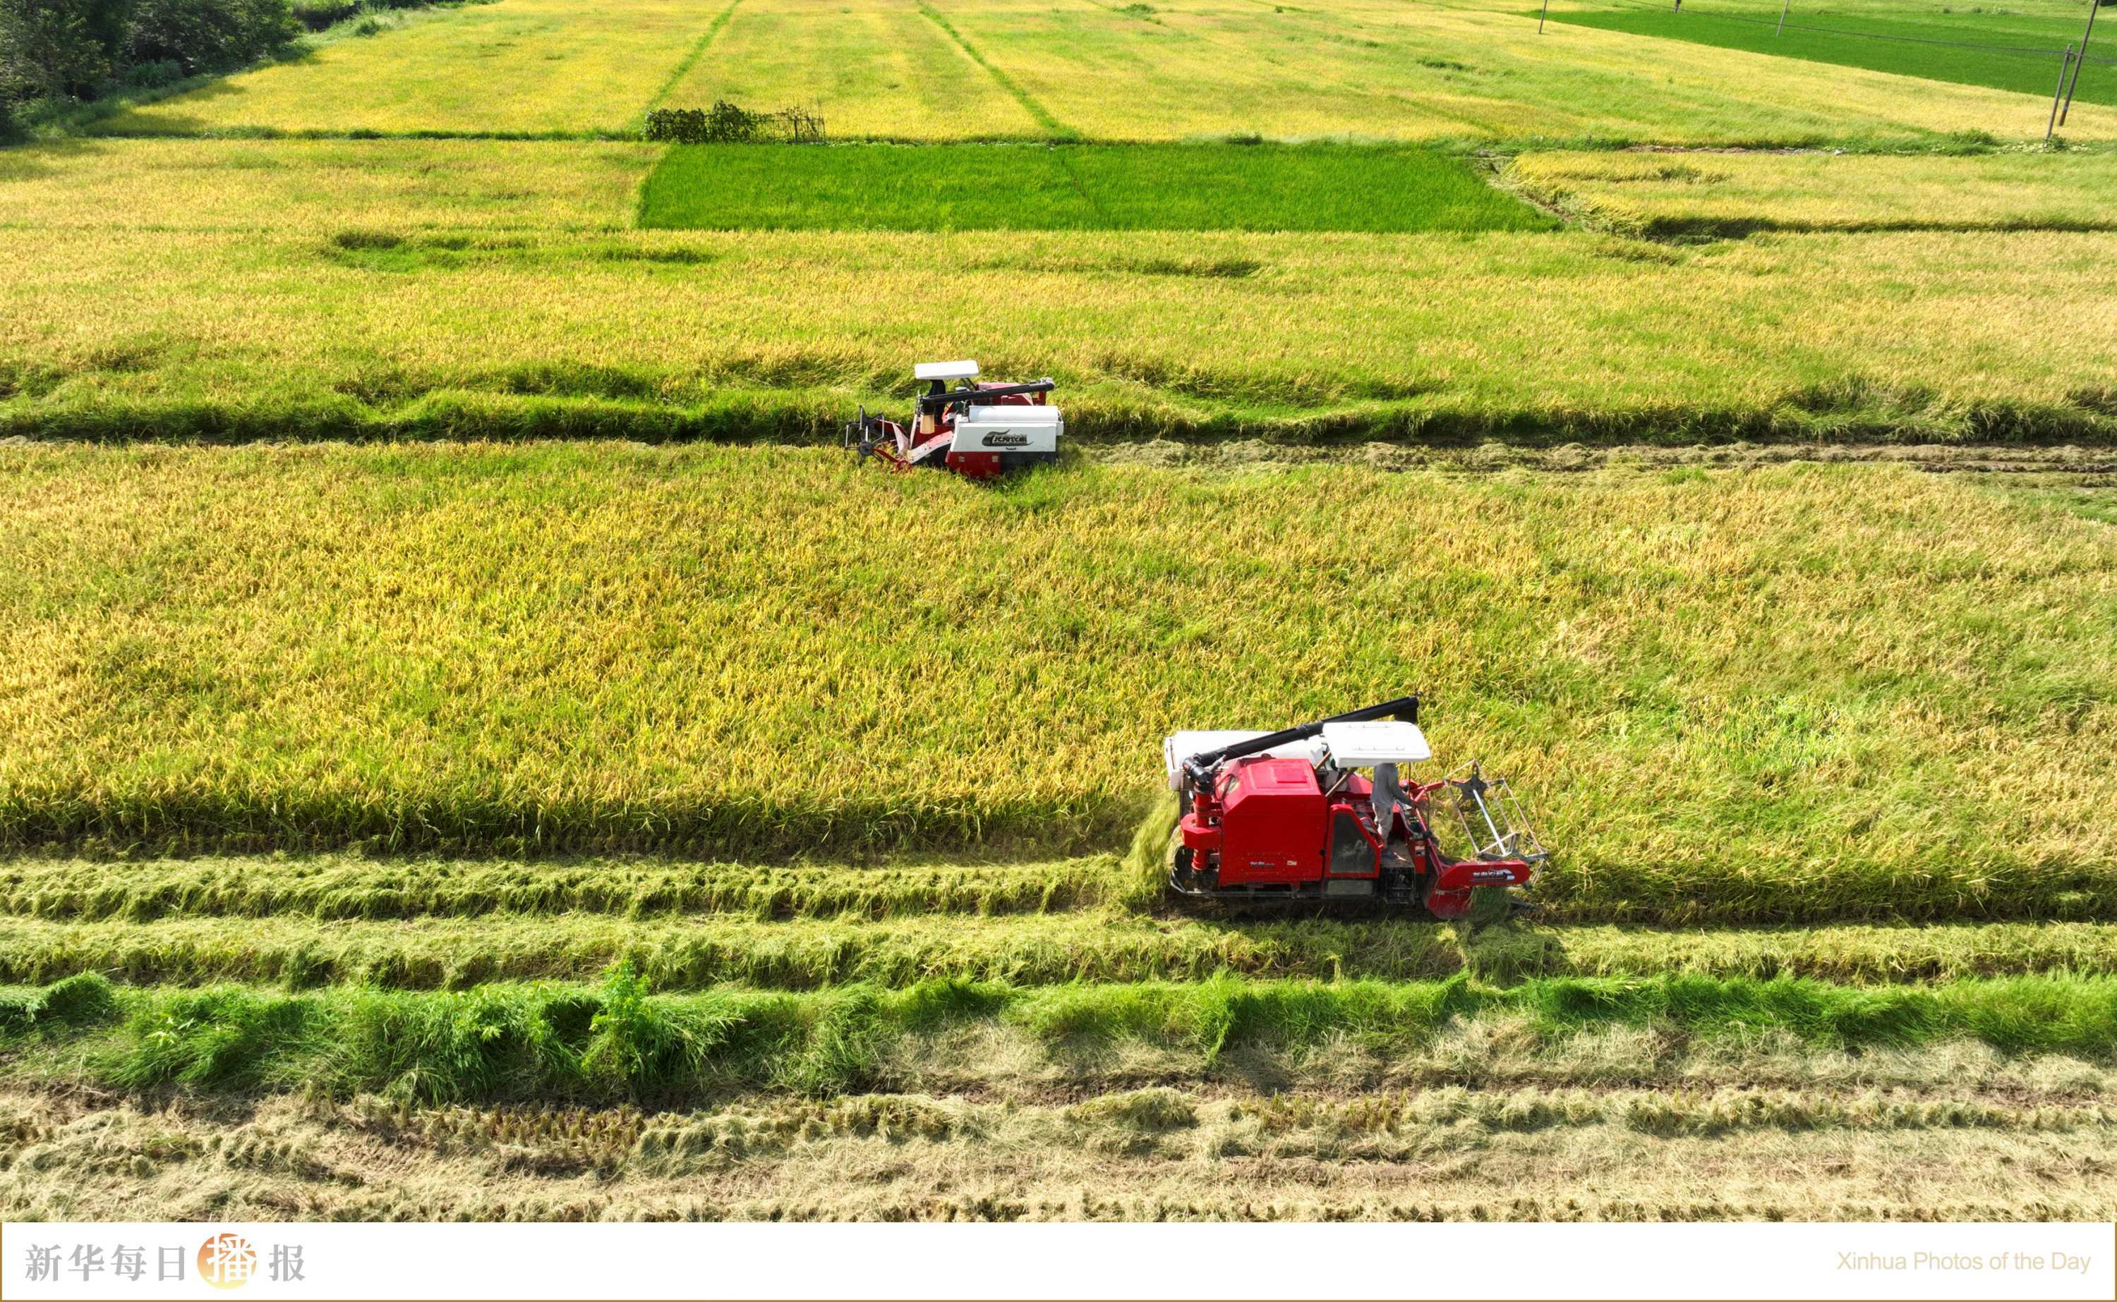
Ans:
[{"label": "larger red combine harvester with white canopy, nearest the camera", "polygon": [[1478,887],[1526,885],[1548,857],[1505,779],[1476,764],[1397,777],[1433,758],[1418,697],[1283,733],[1177,733],[1162,758],[1183,802],[1169,889],[1188,900],[1376,900],[1454,919]]}]

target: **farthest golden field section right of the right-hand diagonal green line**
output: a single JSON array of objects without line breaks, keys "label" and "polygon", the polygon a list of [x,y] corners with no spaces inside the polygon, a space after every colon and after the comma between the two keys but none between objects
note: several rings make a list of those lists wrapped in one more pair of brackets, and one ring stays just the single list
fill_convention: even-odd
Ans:
[{"label": "farthest golden field section right of the right-hand diagonal green line", "polygon": [[[1539,36],[1503,0],[1177,0],[1150,13],[1094,0],[934,0],[929,8],[1010,89],[1092,140],[1736,144],[1977,129],[2026,135],[2043,125],[2034,97],[1984,87],[1590,28]],[[2117,114],[2087,114],[2085,135],[2117,129]]]}]

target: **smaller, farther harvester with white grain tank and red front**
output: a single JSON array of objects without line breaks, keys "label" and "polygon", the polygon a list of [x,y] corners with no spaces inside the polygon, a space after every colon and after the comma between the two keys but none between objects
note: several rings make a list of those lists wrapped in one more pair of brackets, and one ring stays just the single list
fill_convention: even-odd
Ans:
[{"label": "smaller, farther harvester with white grain tank and red front", "polygon": [[976,362],[919,362],[912,375],[927,383],[908,423],[860,409],[845,428],[845,447],[860,459],[874,457],[891,470],[931,466],[970,478],[999,478],[1008,470],[1058,459],[1065,419],[1046,400],[1052,379],[1020,385],[965,383],[978,377]]}]

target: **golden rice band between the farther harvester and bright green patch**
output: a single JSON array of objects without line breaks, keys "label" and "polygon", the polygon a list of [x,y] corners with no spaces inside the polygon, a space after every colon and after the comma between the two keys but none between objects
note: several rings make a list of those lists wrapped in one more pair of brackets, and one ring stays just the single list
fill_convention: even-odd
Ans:
[{"label": "golden rice band between the farther harvester and bright green patch", "polygon": [[1706,243],[633,231],[652,159],[423,140],[0,152],[0,430],[813,440],[902,396],[910,360],[976,354],[1056,377],[1082,442],[2113,434],[2117,235],[2092,229],[2113,155],[2032,159],[2060,163],[2039,176],[1850,155],[1770,176],[1711,155],[1689,182],[1575,178],[1634,155],[1509,174],[1596,214],[1795,227],[1840,191],[1920,193],[1905,174],[1924,167],[1920,229]]}]

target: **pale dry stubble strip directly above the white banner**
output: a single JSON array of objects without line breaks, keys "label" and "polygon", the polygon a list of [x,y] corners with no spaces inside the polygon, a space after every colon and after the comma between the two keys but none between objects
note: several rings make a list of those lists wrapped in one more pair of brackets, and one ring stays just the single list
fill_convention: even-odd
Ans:
[{"label": "pale dry stubble strip directly above the white banner", "polygon": [[267,1099],[239,1120],[15,1090],[0,1133],[8,1219],[2109,1219],[2117,1139],[2106,1103],[1960,1088],[1156,1088],[677,1114],[360,1097]]}]

